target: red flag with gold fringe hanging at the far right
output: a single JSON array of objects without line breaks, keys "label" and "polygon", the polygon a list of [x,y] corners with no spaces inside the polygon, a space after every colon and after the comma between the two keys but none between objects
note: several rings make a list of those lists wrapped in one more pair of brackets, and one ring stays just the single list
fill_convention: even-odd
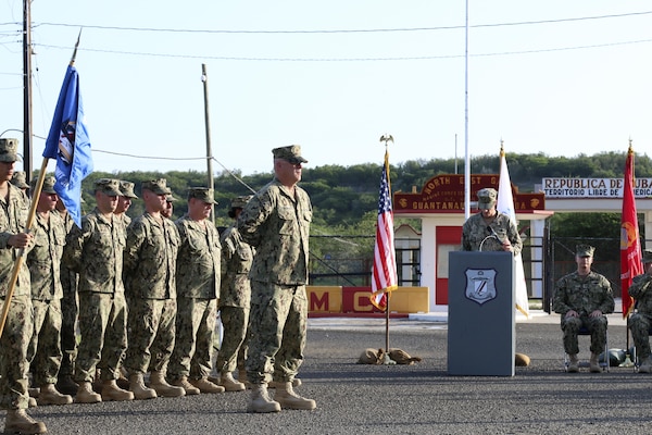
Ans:
[{"label": "red flag with gold fringe hanging at the far right", "polygon": [[627,151],[625,162],[625,186],[623,188],[623,217],[620,223],[620,287],[623,298],[623,318],[627,318],[634,308],[629,296],[631,278],[643,273],[641,263],[641,241],[634,198],[634,149]]}]

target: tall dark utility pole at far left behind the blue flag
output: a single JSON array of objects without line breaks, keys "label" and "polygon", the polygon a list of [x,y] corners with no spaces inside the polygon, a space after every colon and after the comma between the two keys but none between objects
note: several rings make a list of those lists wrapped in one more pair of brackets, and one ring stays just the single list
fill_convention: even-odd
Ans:
[{"label": "tall dark utility pole at far left behind the blue flag", "polygon": [[32,0],[23,0],[23,170],[32,179]]}]

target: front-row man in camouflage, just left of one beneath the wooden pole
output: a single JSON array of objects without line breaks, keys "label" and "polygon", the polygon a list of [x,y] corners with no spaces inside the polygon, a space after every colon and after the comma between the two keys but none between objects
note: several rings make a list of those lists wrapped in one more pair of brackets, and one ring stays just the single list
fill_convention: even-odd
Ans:
[{"label": "front-row man in camouflage, just left of one beneath the wooden pole", "polygon": [[[179,235],[161,215],[171,195],[165,178],[142,183],[145,213],[127,227],[126,290],[129,299],[128,341],[124,366],[136,399],[180,397],[184,388],[170,385],[165,371],[174,349],[176,260]],[[150,371],[150,387],[143,375]]]}]

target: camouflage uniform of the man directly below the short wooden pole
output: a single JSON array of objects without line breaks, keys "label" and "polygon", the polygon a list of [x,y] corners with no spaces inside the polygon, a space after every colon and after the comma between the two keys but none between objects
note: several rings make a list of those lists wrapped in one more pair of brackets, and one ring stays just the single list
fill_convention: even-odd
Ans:
[{"label": "camouflage uniform of the man directly below the short wooden pole", "polygon": [[[201,380],[211,372],[211,350],[220,297],[220,236],[209,221],[188,214],[175,222],[180,245],[177,256],[177,316],[170,378]],[[205,225],[205,227],[204,227]]]}]

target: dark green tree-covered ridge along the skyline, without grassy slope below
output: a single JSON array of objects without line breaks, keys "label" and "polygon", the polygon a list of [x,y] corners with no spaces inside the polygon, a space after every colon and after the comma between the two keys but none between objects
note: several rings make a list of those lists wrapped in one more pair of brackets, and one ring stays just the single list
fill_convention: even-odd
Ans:
[{"label": "dark green tree-covered ridge along the skyline, without grassy slope below", "polygon": [[[535,185],[544,177],[604,177],[619,178],[625,166],[625,152],[606,152],[594,156],[580,154],[575,158],[548,157],[544,153],[507,154],[507,166],[512,183],[519,191],[534,191]],[[498,174],[498,156],[481,156],[471,160],[472,173]],[[411,191],[413,186],[421,188],[424,183],[439,174],[464,173],[464,162],[454,159],[431,159],[402,162],[390,165],[392,191]],[[381,167],[376,163],[353,166],[324,165],[303,169],[301,186],[310,194],[314,208],[314,225],[324,228],[355,227],[365,219],[375,220],[378,203],[378,185]],[[636,176],[652,176],[652,160],[647,156],[637,156]],[[92,173],[84,181],[84,199],[86,207],[92,207],[92,182],[101,177],[116,177],[136,183],[136,191],[140,191],[140,183],[153,178],[166,178],[174,196],[175,215],[186,211],[186,188],[188,186],[205,186],[205,172],[115,172]],[[228,225],[227,211],[230,198],[258,190],[272,179],[272,173],[243,175],[222,172],[214,177],[215,197],[220,202],[215,208],[217,225]],[[142,212],[140,201],[134,201],[130,215]],[[372,225],[373,226],[373,225]]]}]

